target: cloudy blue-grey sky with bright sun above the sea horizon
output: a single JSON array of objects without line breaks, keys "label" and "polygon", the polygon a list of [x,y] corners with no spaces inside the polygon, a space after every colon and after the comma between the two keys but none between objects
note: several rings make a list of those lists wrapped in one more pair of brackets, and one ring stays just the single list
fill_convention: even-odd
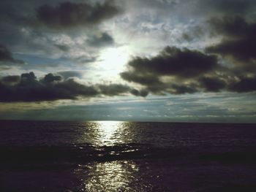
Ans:
[{"label": "cloudy blue-grey sky with bright sun above the sea horizon", "polygon": [[1,0],[0,119],[256,123],[255,8]]}]

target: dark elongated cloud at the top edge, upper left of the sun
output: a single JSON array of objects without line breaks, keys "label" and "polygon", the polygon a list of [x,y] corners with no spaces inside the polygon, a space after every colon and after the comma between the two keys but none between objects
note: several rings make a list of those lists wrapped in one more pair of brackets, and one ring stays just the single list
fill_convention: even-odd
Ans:
[{"label": "dark elongated cloud at the top edge, upper left of the sun", "polygon": [[62,2],[56,7],[49,4],[37,9],[37,18],[50,28],[69,28],[101,23],[120,12],[113,1],[102,4]]}]

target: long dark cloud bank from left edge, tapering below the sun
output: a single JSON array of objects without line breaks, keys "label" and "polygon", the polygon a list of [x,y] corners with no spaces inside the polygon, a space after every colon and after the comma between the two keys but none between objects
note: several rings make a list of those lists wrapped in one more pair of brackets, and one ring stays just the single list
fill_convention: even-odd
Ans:
[{"label": "long dark cloud bank from left edge, tapering below the sun", "polygon": [[[83,85],[72,78],[62,80],[61,76],[46,74],[38,80],[34,72],[20,76],[6,76],[0,79],[0,101],[55,101],[59,99],[90,98],[95,96],[119,96],[130,93],[128,85]],[[146,96],[140,91],[138,96]]]}]

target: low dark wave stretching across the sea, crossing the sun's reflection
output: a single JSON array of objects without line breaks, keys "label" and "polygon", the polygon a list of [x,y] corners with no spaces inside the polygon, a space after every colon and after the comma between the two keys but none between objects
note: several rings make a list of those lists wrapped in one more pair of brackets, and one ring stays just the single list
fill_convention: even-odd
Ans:
[{"label": "low dark wave stretching across the sea, crossing the sun's reflection", "polygon": [[[225,151],[225,152],[222,152]],[[0,169],[64,169],[89,162],[169,158],[175,164],[217,161],[222,164],[256,164],[255,148],[223,150],[222,147],[167,147],[148,144],[93,147],[73,146],[0,147]]]}]

